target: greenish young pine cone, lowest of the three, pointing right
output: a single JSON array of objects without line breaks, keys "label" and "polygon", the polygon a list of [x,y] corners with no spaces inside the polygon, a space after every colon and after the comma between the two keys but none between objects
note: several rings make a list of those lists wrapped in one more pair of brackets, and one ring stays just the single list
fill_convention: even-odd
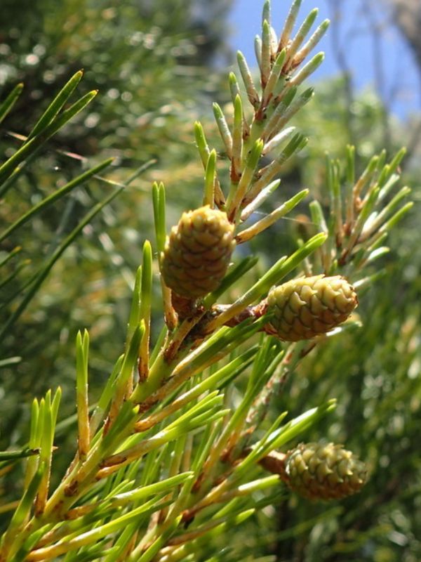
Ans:
[{"label": "greenish young pine cone, lowest of the three, pointing right", "polygon": [[342,445],[306,443],[289,451],[285,461],[288,486],[308,499],[339,499],[366,483],[366,466]]}]

